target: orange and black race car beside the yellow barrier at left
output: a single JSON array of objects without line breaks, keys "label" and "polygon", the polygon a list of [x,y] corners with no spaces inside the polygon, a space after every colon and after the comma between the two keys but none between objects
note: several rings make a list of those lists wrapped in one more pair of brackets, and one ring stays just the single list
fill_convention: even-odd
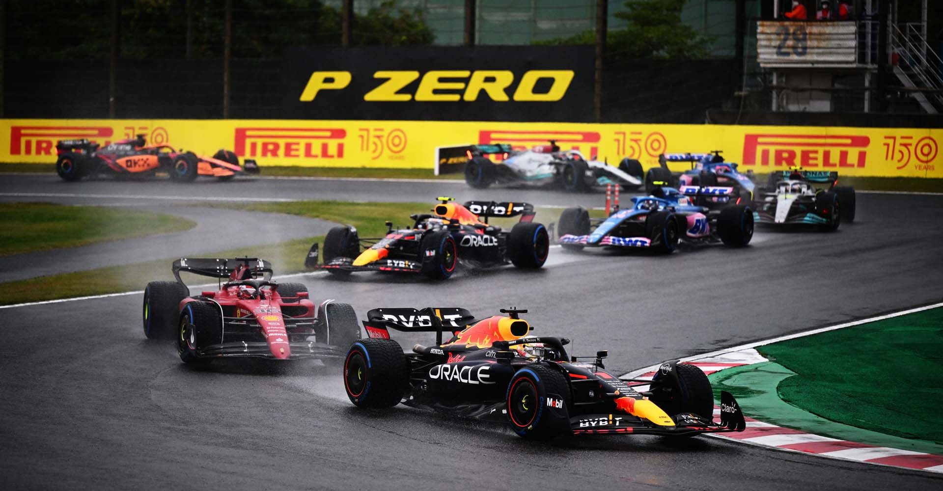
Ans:
[{"label": "orange and black race car beside the yellow barrier at left", "polygon": [[56,144],[56,153],[56,173],[65,181],[78,181],[103,172],[126,176],[163,171],[174,181],[192,181],[197,175],[225,181],[238,173],[258,173],[255,160],[247,158],[240,167],[239,156],[229,150],[220,150],[211,157],[195,155],[169,145],[148,146],[143,135],[102,148],[88,139],[63,139]]}]

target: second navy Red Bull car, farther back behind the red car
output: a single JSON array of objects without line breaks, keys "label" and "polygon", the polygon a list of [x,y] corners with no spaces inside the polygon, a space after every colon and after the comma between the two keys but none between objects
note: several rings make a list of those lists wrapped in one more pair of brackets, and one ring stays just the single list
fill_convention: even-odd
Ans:
[{"label": "second navy Red Bull car, farther back behind the red car", "polygon": [[[451,203],[438,198],[432,213],[413,214],[411,228],[394,229],[387,221],[387,236],[361,238],[353,227],[335,227],[320,246],[308,251],[305,265],[333,274],[351,271],[421,272],[434,279],[452,276],[459,265],[490,268],[513,263],[524,269],[543,266],[550,250],[547,228],[534,220],[527,203],[470,201]],[[488,217],[521,219],[510,231],[488,224]]]}]

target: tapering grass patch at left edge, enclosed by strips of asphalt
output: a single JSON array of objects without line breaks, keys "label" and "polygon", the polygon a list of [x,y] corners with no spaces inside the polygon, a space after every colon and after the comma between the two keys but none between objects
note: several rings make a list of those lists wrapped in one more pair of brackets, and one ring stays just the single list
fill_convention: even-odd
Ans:
[{"label": "tapering grass patch at left edge, enclosed by strips of asphalt", "polygon": [[174,215],[106,206],[0,203],[0,255],[180,232],[196,222]]}]

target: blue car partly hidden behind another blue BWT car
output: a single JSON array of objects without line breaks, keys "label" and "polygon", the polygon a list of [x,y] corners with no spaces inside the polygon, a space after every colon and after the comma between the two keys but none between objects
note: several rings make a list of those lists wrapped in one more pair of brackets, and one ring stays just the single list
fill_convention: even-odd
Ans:
[{"label": "blue car partly hidden behind another blue BWT car", "polygon": [[[689,162],[691,168],[685,172],[671,172],[668,168],[670,162]],[[737,203],[753,201],[756,188],[753,171],[739,172],[735,163],[723,160],[720,150],[707,154],[662,154],[658,155],[658,165],[645,174],[645,192],[651,193],[659,186],[722,186],[734,188],[734,192],[729,196],[717,197],[710,203],[711,206],[726,205],[729,200]]]}]

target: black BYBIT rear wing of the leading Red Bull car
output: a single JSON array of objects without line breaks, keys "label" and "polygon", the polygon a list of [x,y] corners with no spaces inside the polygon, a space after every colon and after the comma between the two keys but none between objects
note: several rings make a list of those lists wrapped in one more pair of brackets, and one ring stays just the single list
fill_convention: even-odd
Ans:
[{"label": "black BYBIT rear wing of the leading Red Bull car", "polygon": [[370,337],[389,339],[388,329],[405,333],[436,333],[436,343],[442,344],[442,333],[454,334],[474,322],[468,310],[458,307],[374,308],[367,312],[363,326]]}]

